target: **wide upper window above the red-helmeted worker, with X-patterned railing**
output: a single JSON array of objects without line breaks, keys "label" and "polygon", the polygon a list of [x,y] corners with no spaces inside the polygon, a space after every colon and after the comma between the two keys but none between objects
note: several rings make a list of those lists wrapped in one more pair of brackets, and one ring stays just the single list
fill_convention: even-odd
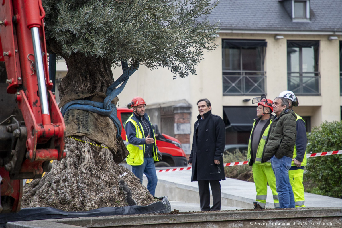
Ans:
[{"label": "wide upper window above the red-helmeted worker, with X-patterned railing", "polygon": [[264,40],[222,40],[223,95],[266,94]]}]

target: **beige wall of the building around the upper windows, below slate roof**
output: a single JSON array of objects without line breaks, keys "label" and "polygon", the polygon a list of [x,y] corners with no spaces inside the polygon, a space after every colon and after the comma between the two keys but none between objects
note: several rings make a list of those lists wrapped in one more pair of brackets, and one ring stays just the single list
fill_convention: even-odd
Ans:
[{"label": "beige wall of the building around the upper windows, below slate roof", "polygon": [[[299,107],[294,110],[302,116],[311,116],[311,126],[321,122],[340,120],[339,40],[328,40],[328,35],[287,35],[275,40],[275,34],[220,33],[216,38],[218,48],[204,52],[205,59],[196,67],[197,75],[173,80],[170,70],[159,68],[149,70],[141,66],[129,79],[126,88],[119,95],[119,107],[126,107],[135,96],[141,96],[147,104],[186,99],[192,106],[191,125],[198,115],[196,102],[208,98],[212,112],[223,117],[223,106],[253,106],[255,96],[222,95],[222,39],[265,39],[266,91],[269,99],[274,99],[281,91],[287,90],[287,40],[320,40],[319,71],[321,75],[320,96],[298,96]],[[341,35],[338,35],[341,40]],[[121,68],[113,68],[114,79]],[[260,94],[261,95],[261,94]],[[243,99],[251,99],[242,102]],[[193,129],[192,129],[193,131]],[[190,137],[191,138],[191,137]]]}]

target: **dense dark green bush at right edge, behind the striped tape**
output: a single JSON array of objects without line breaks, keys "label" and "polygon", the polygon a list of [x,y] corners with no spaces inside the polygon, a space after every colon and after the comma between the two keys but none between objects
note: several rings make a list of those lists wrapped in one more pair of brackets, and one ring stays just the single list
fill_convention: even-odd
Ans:
[{"label": "dense dark green bush at right edge, behind the striped tape", "polygon": [[[307,135],[307,143],[307,153],[341,150],[342,121],[325,121],[319,127],[313,128],[312,132]],[[304,182],[309,182],[314,187],[305,190],[341,198],[341,158],[342,155],[308,158],[304,169]]]}]

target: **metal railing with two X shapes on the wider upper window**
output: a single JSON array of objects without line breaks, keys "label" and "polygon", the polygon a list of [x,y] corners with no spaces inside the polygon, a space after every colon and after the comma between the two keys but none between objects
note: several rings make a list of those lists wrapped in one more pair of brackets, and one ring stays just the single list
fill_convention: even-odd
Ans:
[{"label": "metal railing with two X shapes on the wider upper window", "polygon": [[266,94],[266,72],[223,70],[223,95]]}]

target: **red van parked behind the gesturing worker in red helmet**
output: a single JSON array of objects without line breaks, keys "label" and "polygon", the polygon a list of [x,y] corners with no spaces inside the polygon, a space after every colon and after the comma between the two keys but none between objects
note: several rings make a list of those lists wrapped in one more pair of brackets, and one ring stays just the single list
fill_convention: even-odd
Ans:
[{"label": "red van parked behind the gesturing worker in red helmet", "polygon": [[[129,108],[117,108],[117,110],[117,116],[122,128],[121,137],[125,141],[126,131],[123,124],[132,115],[133,110]],[[185,153],[179,140],[169,135],[161,134],[157,124],[154,126],[154,131],[156,134],[156,144],[162,155],[162,160],[155,163],[156,167],[187,166]]]}]

